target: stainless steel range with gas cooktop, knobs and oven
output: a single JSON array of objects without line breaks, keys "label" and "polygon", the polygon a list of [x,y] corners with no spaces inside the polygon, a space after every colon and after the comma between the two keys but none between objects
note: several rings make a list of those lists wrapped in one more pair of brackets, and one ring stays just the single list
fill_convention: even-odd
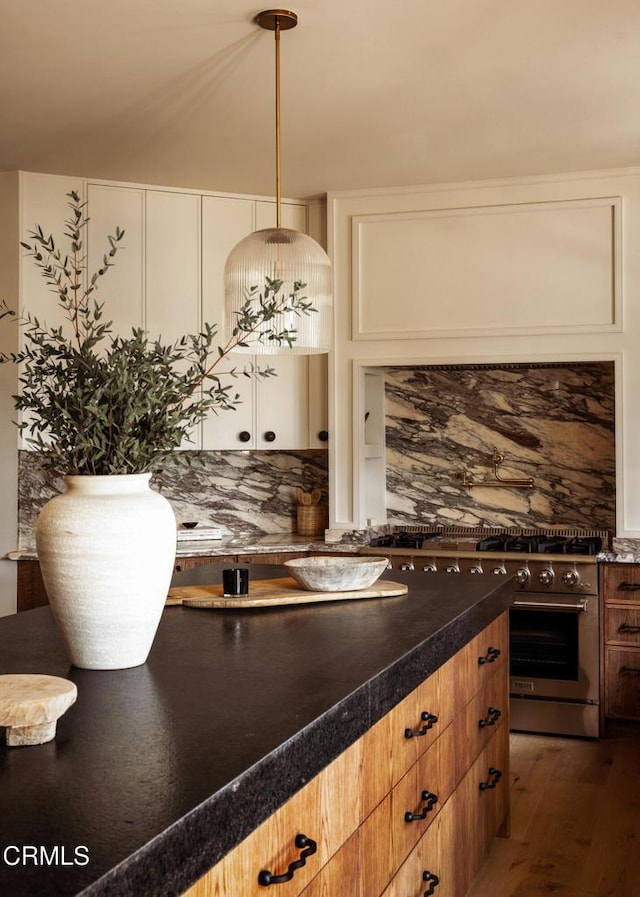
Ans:
[{"label": "stainless steel range with gas cooktop, knobs and oven", "polygon": [[596,530],[421,527],[371,540],[396,570],[513,577],[511,728],[600,734],[598,568],[610,536]]}]

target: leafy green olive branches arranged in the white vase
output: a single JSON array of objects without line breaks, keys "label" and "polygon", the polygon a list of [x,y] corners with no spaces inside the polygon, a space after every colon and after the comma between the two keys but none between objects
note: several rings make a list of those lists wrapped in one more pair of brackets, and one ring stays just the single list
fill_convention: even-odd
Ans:
[{"label": "leafy green olive branches arranged in the white vase", "polygon": [[[310,314],[315,308],[302,295],[305,284],[296,281],[287,294],[282,281],[265,278],[262,288],[248,291],[223,346],[217,345],[217,326],[208,323],[170,345],[150,340],[142,328],[133,328],[128,337],[114,335],[95,293],[114,265],[124,231],[116,228],[107,238],[102,265],[85,281],[86,203],[75,191],[67,196],[70,252],[63,253],[38,225],[28,234],[30,242],[21,246],[40,269],[68,324],[49,326],[30,314],[18,317],[2,302],[0,319],[17,318],[24,337],[17,352],[0,353],[0,363],[19,365],[20,390],[13,396],[16,410],[24,415],[19,427],[43,452],[45,467],[75,475],[148,472],[190,440],[192,428],[207,414],[239,404],[233,384],[223,384],[223,376],[275,375],[273,368],[254,364],[220,370],[234,348],[255,345],[259,353],[265,340],[291,347],[295,329],[275,329],[277,316]],[[180,456],[188,461],[189,454]]]}]

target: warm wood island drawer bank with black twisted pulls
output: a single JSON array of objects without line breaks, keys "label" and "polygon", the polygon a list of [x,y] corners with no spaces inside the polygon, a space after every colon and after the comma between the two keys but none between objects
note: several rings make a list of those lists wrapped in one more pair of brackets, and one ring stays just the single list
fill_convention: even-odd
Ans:
[{"label": "warm wood island drawer bank with black twisted pulls", "polygon": [[[276,889],[286,897],[405,897],[423,893],[425,872],[438,895],[462,897],[494,836],[508,828],[507,616],[432,673],[184,897],[231,897],[238,889],[260,897],[264,870],[292,871]],[[302,854],[304,866],[296,869],[300,833],[316,849]]]}]

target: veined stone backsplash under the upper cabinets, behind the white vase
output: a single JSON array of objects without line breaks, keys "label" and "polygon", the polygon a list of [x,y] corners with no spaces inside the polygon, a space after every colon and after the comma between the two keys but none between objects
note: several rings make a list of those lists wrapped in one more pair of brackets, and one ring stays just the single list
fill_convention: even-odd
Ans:
[{"label": "veined stone backsplash under the upper cabinets, behind the white vase", "polygon": [[[167,463],[152,485],[171,502],[178,523],[197,520],[217,526],[223,535],[293,533],[296,529],[296,488],[322,489],[327,501],[327,451],[192,452],[193,462]],[[36,452],[19,453],[19,548],[35,544],[40,508],[57,492],[60,478],[48,473]]]}]

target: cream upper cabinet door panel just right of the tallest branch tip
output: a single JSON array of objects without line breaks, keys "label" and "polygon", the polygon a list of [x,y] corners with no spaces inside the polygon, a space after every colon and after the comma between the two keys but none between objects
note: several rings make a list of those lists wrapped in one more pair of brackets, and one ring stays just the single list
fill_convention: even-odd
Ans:
[{"label": "cream upper cabinet door panel just right of the tallest branch tip", "polygon": [[114,265],[98,281],[96,298],[114,333],[129,336],[144,326],[144,190],[88,184],[87,267],[93,274],[109,248],[108,236],[124,230]]}]

